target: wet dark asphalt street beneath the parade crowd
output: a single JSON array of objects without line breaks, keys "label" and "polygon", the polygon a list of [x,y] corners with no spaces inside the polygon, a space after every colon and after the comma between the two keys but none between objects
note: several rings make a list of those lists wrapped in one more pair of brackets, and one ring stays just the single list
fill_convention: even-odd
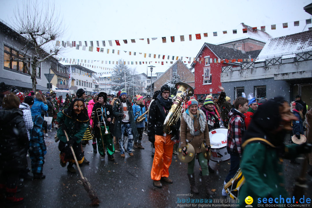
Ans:
[{"label": "wet dark asphalt street beneath the parade crowd", "polygon": [[[49,138],[45,139],[47,154],[43,173],[46,178],[24,181],[25,186],[17,196],[25,197],[25,202],[15,207],[89,207],[90,198],[83,186],[77,183],[80,178],[78,171],[71,174],[67,172],[66,167],[60,165],[58,143],[54,142],[55,133],[56,130],[53,129],[51,133],[48,133]],[[190,193],[187,164],[181,163],[176,156],[173,156],[169,169],[169,178],[173,180],[173,184],[163,182],[162,188],[153,186],[150,177],[153,163],[152,149],[145,132],[143,136],[144,150],[135,149],[134,157],[126,153],[125,158],[121,158],[119,152],[115,152],[115,161],[109,161],[107,155],[105,160],[101,161],[100,155],[93,153],[91,141],[90,145],[86,146],[85,158],[90,161],[90,164],[84,165],[81,170],[100,199],[99,207],[177,207],[180,205],[177,203],[177,197],[181,198],[180,194]],[[294,180],[299,175],[301,166],[290,164],[289,160],[285,160],[284,164],[285,186],[291,194]],[[220,198],[223,181],[230,164],[229,161],[220,163],[210,161],[210,166],[216,171],[210,175],[211,188],[215,189],[214,198]],[[207,198],[199,176],[198,162],[195,163],[194,170],[196,185],[200,193],[191,198]],[[307,177],[310,189],[307,190],[306,196],[312,196],[312,180],[310,176]]]}]

